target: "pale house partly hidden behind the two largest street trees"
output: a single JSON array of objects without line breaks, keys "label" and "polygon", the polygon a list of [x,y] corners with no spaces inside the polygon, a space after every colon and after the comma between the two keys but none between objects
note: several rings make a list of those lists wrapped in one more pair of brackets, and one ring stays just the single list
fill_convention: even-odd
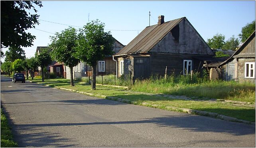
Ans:
[{"label": "pale house partly hidden behind the two largest street trees", "polygon": [[[124,45],[115,39],[113,44],[114,54],[118,53]],[[65,66],[64,72],[66,78],[70,79],[70,68]],[[116,62],[112,60],[112,55],[106,56],[104,59],[97,61],[96,76],[97,75],[108,75],[116,73]],[[75,79],[82,78],[85,76],[92,76],[92,68],[86,63],[80,62],[77,66],[73,67],[73,77]]]}]

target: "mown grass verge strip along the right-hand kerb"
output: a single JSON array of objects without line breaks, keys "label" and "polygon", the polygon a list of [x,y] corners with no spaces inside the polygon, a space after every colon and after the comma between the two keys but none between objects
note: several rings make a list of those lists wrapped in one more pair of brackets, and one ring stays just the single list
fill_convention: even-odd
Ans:
[{"label": "mown grass verge strip along the right-hand kerb", "polygon": [[[96,86],[96,90],[91,90],[91,86],[88,84],[82,84],[80,82],[75,83],[75,86],[70,86],[70,80],[66,79],[47,79],[45,82],[41,80],[33,80],[33,82],[39,82],[47,84],[51,87],[59,86],[62,88],[77,90],[81,92],[106,95],[110,97],[119,97],[122,99],[128,99],[130,101],[136,101],[138,105],[147,105],[150,107],[156,107],[165,109],[167,106],[196,109],[200,111],[209,111],[213,113],[219,113],[237,119],[255,122],[255,109],[252,107],[238,107],[230,103],[223,103],[222,101],[206,102],[202,100],[179,100],[171,99],[169,97],[146,95],[133,90],[126,90],[122,88],[114,88],[107,86]],[[255,93],[255,92],[254,92]],[[254,99],[255,102],[255,99]]]}]

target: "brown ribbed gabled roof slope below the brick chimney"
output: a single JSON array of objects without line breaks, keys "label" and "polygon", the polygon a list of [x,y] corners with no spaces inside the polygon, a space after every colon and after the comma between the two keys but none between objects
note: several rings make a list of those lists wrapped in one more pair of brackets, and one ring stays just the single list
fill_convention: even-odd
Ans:
[{"label": "brown ribbed gabled roof slope below the brick chimney", "polygon": [[147,53],[154,47],[173,27],[175,27],[185,17],[167,21],[161,25],[146,27],[128,45],[120,50],[115,56],[128,55],[132,53]]}]

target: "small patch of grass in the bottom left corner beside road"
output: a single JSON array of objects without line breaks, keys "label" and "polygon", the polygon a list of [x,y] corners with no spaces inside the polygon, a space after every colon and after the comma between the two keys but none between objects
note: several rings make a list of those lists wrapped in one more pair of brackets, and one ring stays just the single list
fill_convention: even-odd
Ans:
[{"label": "small patch of grass in the bottom left corner beside road", "polygon": [[2,148],[18,147],[18,144],[13,141],[11,128],[8,125],[6,116],[2,113],[2,108],[1,108],[1,147]]}]

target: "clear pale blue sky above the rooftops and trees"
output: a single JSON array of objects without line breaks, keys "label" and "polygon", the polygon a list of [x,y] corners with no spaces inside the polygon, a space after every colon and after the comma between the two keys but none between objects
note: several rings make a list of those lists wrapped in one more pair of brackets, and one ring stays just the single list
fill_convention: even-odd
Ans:
[{"label": "clear pale blue sky above the rooftops and trees", "polygon": [[[255,1],[42,1],[42,4],[43,7],[36,7],[40,24],[27,30],[36,36],[32,47],[22,48],[27,58],[35,55],[37,47],[50,44],[54,33],[69,25],[79,29],[96,19],[123,45],[149,23],[157,24],[160,15],[165,21],[186,17],[205,41],[217,33],[223,34],[225,40],[232,35],[238,37],[242,27],[255,20]],[[6,50],[3,49],[4,53]]]}]

